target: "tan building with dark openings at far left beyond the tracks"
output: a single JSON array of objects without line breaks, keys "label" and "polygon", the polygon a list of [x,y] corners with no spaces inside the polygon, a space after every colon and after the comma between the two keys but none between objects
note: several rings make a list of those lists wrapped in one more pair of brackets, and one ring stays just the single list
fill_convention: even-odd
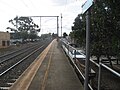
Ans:
[{"label": "tan building with dark openings at far left beyond the tracks", "polygon": [[0,48],[6,48],[10,45],[10,33],[0,32]]}]

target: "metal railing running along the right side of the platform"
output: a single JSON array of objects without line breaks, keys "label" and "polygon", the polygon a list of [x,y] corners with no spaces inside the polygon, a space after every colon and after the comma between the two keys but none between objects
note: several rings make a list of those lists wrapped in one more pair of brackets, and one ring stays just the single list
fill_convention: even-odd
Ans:
[{"label": "metal railing running along the right side of the platform", "polygon": [[[71,57],[71,52],[73,50],[75,50],[75,52],[77,51],[76,48],[70,46],[69,44],[67,44],[66,42],[62,41],[62,48],[63,50],[65,51],[65,53],[67,54],[67,56],[70,58],[73,66],[75,67],[75,69],[78,71],[78,73],[81,75],[81,77],[83,78],[83,80],[85,80],[85,76],[84,74],[81,72],[81,70],[78,68],[78,66],[76,65],[75,63],[75,59],[76,59],[76,55],[74,56],[74,59],[73,57]],[[98,86],[97,86],[97,89],[100,90],[100,87],[101,87],[101,70],[102,70],[102,67],[104,67],[106,70],[110,71],[112,74],[116,75],[117,77],[120,77],[120,73],[116,72],[115,70],[111,69],[110,67],[106,66],[105,64],[103,64],[100,60],[99,64],[96,63],[95,61],[93,61],[92,59],[90,59],[90,62],[92,62],[94,65],[96,65],[98,68],[99,68],[99,71],[98,71]],[[92,86],[90,85],[90,83],[88,84],[89,86],[89,89],[90,90],[93,90]]]}]

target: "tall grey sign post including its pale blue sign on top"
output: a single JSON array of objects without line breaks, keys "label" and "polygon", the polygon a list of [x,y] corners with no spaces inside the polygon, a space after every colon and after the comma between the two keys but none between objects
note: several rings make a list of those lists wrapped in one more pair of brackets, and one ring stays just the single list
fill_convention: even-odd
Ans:
[{"label": "tall grey sign post including its pale blue sign on top", "polygon": [[87,0],[82,5],[82,13],[86,13],[86,61],[85,61],[85,82],[84,90],[89,90],[89,72],[90,72],[90,7],[93,0]]}]

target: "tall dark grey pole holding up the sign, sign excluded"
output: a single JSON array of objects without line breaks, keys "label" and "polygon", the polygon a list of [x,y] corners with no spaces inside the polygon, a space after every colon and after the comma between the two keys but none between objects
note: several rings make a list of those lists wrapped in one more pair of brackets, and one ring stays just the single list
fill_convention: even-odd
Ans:
[{"label": "tall dark grey pole holding up the sign, sign excluded", "polygon": [[90,11],[86,12],[86,61],[84,90],[88,90],[90,66]]}]

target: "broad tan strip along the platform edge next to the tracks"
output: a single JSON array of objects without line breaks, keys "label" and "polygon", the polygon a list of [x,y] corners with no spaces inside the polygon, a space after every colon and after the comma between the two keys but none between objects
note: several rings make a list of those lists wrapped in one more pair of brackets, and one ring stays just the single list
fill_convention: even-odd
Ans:
[{"label": "broad tan strip along the platform edge next to the tracks", "polygon": [[28,69],[20,76],[15,84],[9,90],[27,90],[31,84],[35,74],[41,66],[44,58],[51,48],[54,40],[48,45],[48,47],[37,57],[37,59],[28,67]]}]

